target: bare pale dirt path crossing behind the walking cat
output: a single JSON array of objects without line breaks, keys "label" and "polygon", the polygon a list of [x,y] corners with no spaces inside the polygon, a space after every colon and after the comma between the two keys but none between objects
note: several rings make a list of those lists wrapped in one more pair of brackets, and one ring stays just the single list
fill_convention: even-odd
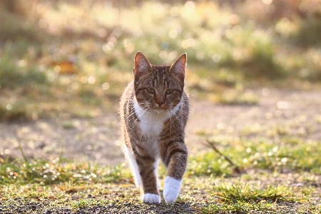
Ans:
[{"label": "bare pale dirt path crossing behind the walking cat", "polygon": [[[260,88],[258,105],[221,105],[191,98],[186,128],[191,153],[206,149],[197,133],[216,136],[255,136],[273,128],[302,138],[321,140],[321,91],[287,91]],[[118,138],[117,113],[99,118],[51,118],[26,123],[0,123],[0,155],[21,157],[19,142],[28,158],[91,160],[102,164],[123,163]],[[263,134],[265,135],[265,134]],[[268,135],[267,135],[268,137]]]}]

